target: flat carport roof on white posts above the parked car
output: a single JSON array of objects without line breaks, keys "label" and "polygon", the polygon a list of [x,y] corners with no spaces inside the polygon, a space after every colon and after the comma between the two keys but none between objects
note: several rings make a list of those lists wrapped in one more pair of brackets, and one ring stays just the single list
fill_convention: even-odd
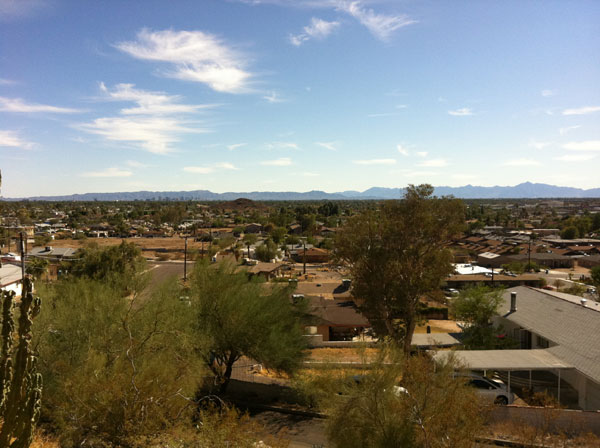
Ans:
[{"label": "flat carport roof on white posts above the parked car", "polygon": [[558,377],[558,401],[560,402],[560,373],[574,368],[558,359],[545,349],[534,350],[454,350],[438,351],[433,358],[444,362],[454,357],[458,366],[470,370],[500,370],[508,373],[508,391],[510,392],[510,372],[529,371],[529,388],[531,388],[531,372],[547,370],[556,372]]}]

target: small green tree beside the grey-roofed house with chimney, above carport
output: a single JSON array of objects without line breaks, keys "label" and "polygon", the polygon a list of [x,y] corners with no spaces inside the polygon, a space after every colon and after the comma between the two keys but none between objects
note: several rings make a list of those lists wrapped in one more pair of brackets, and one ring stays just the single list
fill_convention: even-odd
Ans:
[{"label": "small green tree beside the grey-roofed house with chimney, above carport", "polygon": [[463,331],[463,345],[467,350],[491,350],[512,348],[513,340],[504,334],[502,328],[492,325],[492,317],[502,304],[502,290],[486,286],[466,289],[452,303],[452,311],[457,320],[468,326]]}]

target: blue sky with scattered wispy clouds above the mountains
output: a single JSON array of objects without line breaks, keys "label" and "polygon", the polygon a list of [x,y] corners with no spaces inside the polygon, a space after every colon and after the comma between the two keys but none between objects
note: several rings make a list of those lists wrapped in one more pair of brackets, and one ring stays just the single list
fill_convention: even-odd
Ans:
[{"label": "blue sky with scattered wispy clouds above the mountains", "polygon": [[599,1],[0,0],[4,197],[598,168]]}]

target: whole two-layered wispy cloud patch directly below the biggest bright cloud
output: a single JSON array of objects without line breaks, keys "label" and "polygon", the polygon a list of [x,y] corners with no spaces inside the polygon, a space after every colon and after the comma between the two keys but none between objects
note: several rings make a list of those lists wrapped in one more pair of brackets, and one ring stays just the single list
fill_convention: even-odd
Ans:
[{"label": "whole two-layered wispy cloud patch directly below the biggest bright cloud", "polygon": [[100,90],[105,100],[134,102],[137,107],[121,109],[122,116],[97,118],[76,128],[107,140],[128,142],[154,154],[172,152],[172,145],[181,134],[206,132],[190,126],[191,122],[180,115],[207,106],[180,104],[178,96],[136,89],[133,84],[118,84],[112,90],[100,84]]}]

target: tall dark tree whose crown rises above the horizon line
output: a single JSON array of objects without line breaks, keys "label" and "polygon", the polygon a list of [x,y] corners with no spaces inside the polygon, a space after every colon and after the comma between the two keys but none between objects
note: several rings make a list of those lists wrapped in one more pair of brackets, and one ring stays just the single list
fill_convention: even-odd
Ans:
[{"label": "tall dark tree whose crown rises above the horizon line", "polygon": [[335,244],[336,257],[350,270],[360,310],[406,353],[419,299],[453,271],[444,243],[464,221],[462,201],[432,194],[431,185],[410,185],[403,200],[349,218]]}]

